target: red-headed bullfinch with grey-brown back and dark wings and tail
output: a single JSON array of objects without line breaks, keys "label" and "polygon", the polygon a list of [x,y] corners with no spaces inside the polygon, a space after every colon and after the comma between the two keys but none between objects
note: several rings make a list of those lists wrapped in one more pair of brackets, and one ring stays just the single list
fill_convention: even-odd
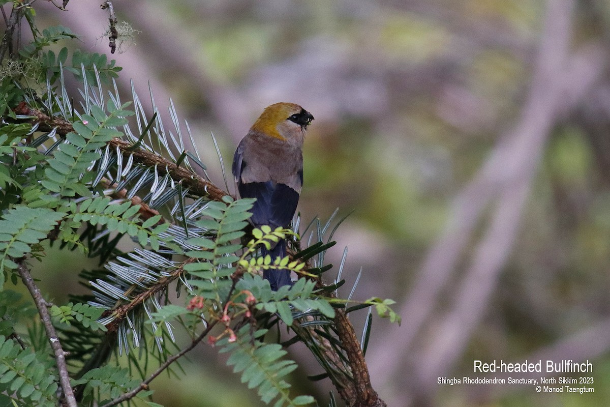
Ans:
[{"label": "red-headed bullfinch with grey-brown back and dark wings and tail", "polygon": [[[242,198],[256,198],[250,223],[289,228],[303,187],[303,142],[314,116],[295,103],[265,107],[233,156],[231,170]],[[271,260],[286,256],[286,240],[261,248]],[[263,270],[272,290],[292,286],[290,270]]]}]

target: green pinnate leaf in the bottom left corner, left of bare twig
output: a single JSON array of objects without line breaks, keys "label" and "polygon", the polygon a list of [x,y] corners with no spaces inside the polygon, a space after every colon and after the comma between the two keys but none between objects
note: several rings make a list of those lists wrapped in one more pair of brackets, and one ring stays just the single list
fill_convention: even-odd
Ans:
[{"label": "green pinnate leaf in the bottom left corner, left of bare twig", "polygon": [[[44,360],[46,355],[40,358]],[[0,392],[27,400],[29,405],[54,407],[56,391],[57,377],[37,353],[0,336]]]}]

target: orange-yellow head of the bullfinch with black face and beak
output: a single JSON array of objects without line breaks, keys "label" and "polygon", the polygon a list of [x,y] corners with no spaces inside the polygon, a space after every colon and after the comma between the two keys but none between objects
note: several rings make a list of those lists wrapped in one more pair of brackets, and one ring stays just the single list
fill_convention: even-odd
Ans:
[{"label": "orange-yellow head of the bullfinch with black face and beak", "polygon": [[298,104],[280,102],[265,107],[250,131],[289,143],[303,143],[305,131],[312,120],[312,114]]}]

